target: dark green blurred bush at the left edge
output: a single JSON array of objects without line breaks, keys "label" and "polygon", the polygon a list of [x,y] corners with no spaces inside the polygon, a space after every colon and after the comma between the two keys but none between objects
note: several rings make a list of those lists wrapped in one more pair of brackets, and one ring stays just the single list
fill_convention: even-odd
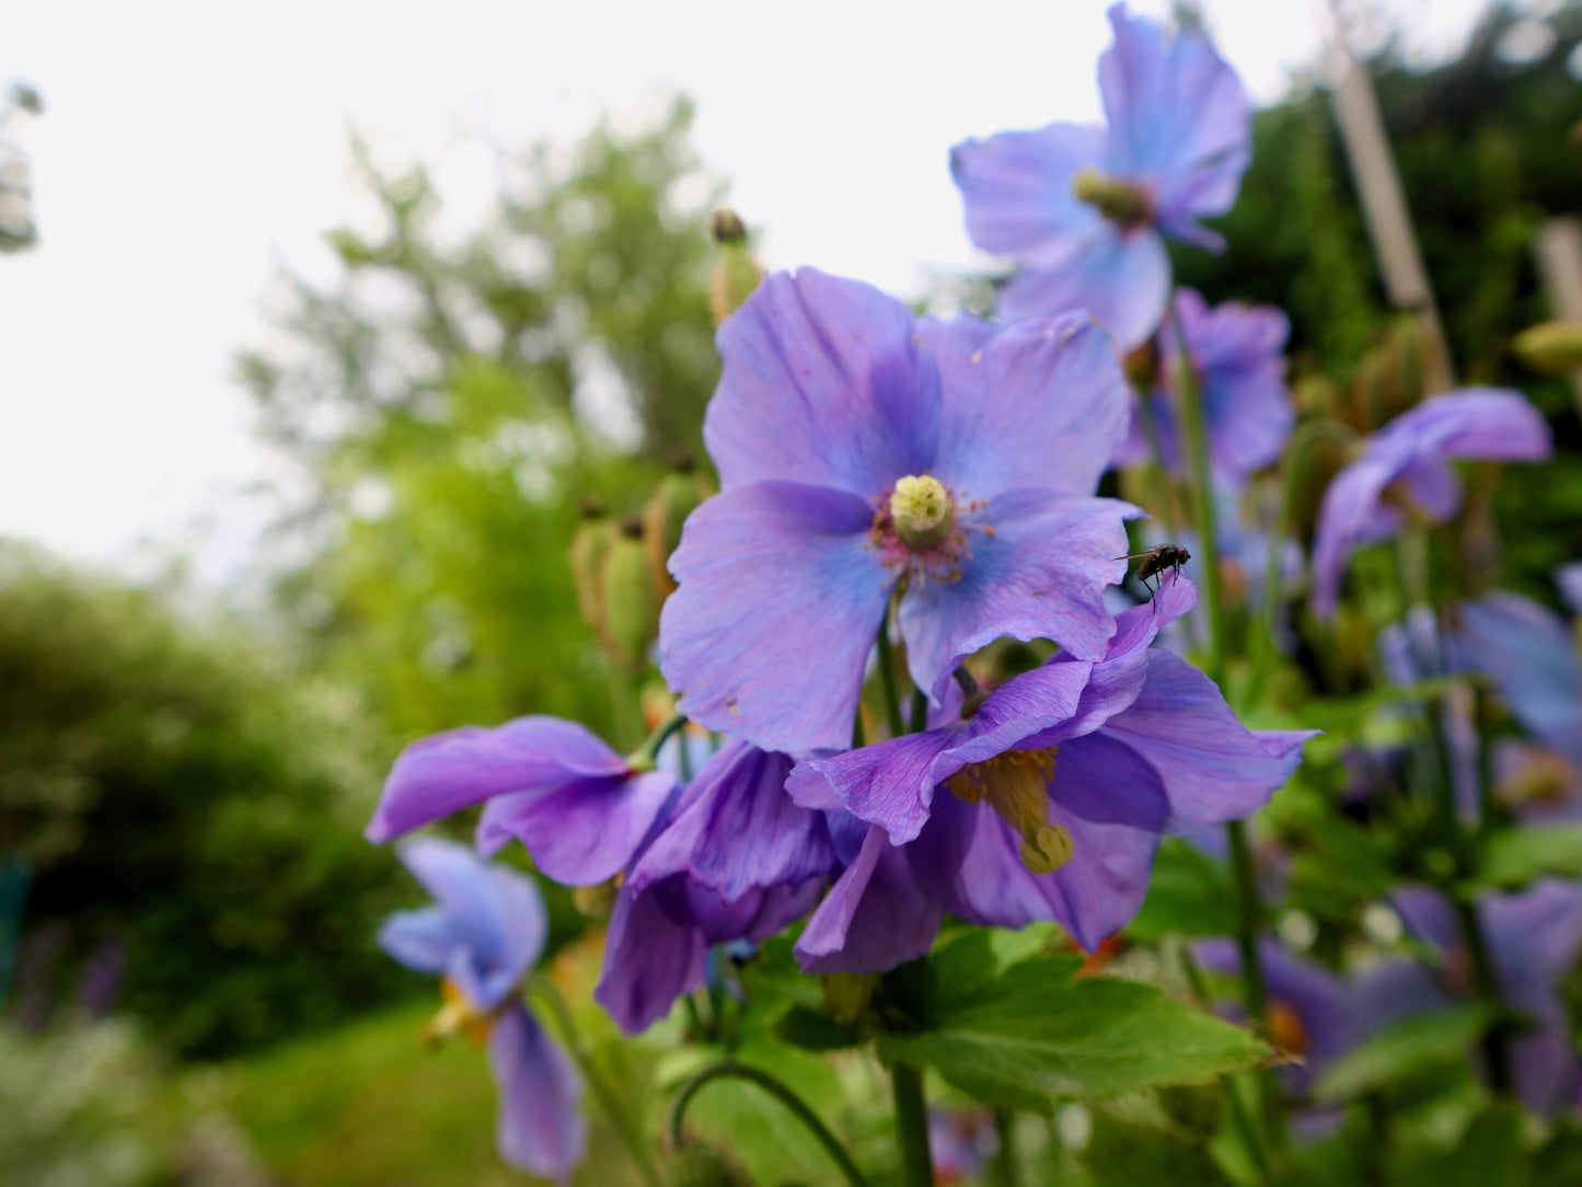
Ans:
[{"label": "dark green blurred bush at the left edge", "polygon": [[187,1054],[410,989],[373,943],[407,896],[358,836],[378,738],[354,700],[237,631],[6,544],[0,855],[30,859],[27,934],[57,939],[19,967],[17,1008],[106,1008],[106,948],[125,953],[122,1005]]}]

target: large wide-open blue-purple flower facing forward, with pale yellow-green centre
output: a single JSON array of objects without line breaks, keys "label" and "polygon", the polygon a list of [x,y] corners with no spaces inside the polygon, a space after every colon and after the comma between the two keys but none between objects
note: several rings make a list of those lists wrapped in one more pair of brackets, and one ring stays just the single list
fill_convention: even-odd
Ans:
[{"label": "large wide-open blue-purple flower facing forward, with pale yellow-green centre", "polygon": [[688,518],[660,666],[680,711],[788,753],[850,744],[864,665],[902,589],[913,681],[987,643],[1104,654],[1123,519],[1090,499],[1126,430],[1107,336],[1082,317],[916,320],[812,269],[720,328],[704,438],[721,491]]}]

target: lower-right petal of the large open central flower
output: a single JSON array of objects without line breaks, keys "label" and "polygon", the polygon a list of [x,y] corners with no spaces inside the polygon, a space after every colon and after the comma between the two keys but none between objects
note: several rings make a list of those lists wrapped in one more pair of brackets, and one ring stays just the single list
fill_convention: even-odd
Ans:
[{"label": "lower-right petal of the large open central flower", "polygon": [[1125,521],[1142,514],[1114,499],[1050,499],[1012,491],[984,516],[993,535],[970,537],[960,579],[914,582],[900,603],[906,662],[919,688],[940,684],[1000,638],[1049,638],[1082,660],[1103,658],[1115,633],[1104,589],[1126,562]]}]

